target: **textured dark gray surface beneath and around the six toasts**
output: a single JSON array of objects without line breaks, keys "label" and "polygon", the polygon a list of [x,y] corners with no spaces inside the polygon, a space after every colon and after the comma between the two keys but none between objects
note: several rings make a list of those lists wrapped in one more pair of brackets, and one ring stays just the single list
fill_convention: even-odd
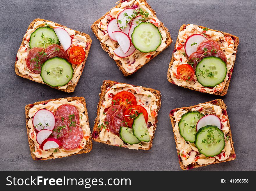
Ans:
[{"label": "textured dark gray surface beneath and around the six toasts", "polygon": [[[228,93],[224,97],[195,92],[167,81],[174,43],[137,73],[124,77],[90,29],[95,20],[115,6],[115,0],[1,2],[1,170],[180,170],[169,112],[177,107],[216,98],[223,99],[227,104],[237,159],[196,170],[256,170],[255,1],[148,0],[157,17],[169,29],[174,42],[180,26],[188,23],[239,37],[237,61]],[[75,92],[61,92],[15,74],[17,50],[27,27],[35,18],[63,24],[87,33],[93,39]],[[162,106],[152,149],[136,151],[93,142],[90,153],[55,160],[32,160],[25,128],[25,105],[51,98],[83,96],[92,129],[100,86],[107,79],[161,91]]]}]

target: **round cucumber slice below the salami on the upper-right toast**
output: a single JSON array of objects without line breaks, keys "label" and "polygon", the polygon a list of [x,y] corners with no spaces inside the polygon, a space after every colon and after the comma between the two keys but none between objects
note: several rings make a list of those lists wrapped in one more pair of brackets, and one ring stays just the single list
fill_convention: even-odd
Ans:
[{"label": "round cucumber slice below the salami on the upper-right toast", "polygon": [[226,74],[226,63],[215,56],[203,58],[195,69],[197,81],[205,87],[214,87],[223,82]]}]

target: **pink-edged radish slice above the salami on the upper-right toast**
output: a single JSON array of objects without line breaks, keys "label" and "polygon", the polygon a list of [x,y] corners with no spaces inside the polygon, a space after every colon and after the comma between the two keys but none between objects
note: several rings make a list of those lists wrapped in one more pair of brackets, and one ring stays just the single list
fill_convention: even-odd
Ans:
[{"label": "pink-edged radish slice above the salami on the upper-right toast", "polygon": [[190,35],[184,45],[186,55],[189,57],[193,52],[197,50],[198,45],[205,40],[208,40],[208,38],[206,38],[204,35]]}]

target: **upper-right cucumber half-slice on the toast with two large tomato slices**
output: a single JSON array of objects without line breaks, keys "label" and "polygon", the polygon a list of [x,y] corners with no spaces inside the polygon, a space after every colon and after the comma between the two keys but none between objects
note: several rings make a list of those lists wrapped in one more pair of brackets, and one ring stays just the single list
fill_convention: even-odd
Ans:
[{"label": "upper-right cucumber half-slice on the toast with two large tomato slices", "polygon": [[147,130],[147,125],[143,113],[140,113],[134,120],[132,124],[132,131],[135,137],[139,141],[149,142],[150,136]]}]

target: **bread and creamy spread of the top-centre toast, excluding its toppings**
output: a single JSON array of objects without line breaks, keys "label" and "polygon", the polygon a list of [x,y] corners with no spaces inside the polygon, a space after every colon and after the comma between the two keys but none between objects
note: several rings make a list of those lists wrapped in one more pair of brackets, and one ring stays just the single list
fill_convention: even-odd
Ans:
[{"label": "bread and creamy spread of the top-centre toast, excluding its toppings", "polygon": [[[109,37],[107,33],[107,24],[111,19],[117,17],[123,8],[138,8],[138,6],[140,6],[144,11],[147,10],[150,13],[151,16],[149,16],[148,19],[150,19],[149,21],[152,22],[152,24],[159,28],[159,31],[162,35],[162,43],[156,51],[142,53],[138,50],[135,50],[135,52],[130,56],[126,58],[120,58],[114,53],[114,51],[117,50],[118,43],[111,40]],[[91,28],[97,39],[99,39],[102,49],[109,53],[109,56],[115,60],[124,76],[129,76],[137,72],[138,69],[147,64],[150,60],[152,60],[172,43],[168,29],[163,25],[162,22],[157,19],[156,12],[150,7],[146,0],[120,1],[117,6],[111,9],[111,11],[107,12],[103,17],[95,21]]]}]

